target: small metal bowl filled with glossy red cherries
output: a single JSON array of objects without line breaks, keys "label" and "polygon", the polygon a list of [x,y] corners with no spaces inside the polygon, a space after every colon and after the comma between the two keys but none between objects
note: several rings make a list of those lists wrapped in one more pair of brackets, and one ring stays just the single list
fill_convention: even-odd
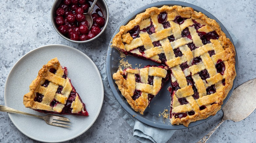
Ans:
[{"label": "small metal bowl filled with glossy red cherries", "polygon": [[89,29],[84,13],[92,3],[93,0],[55,0],[51,19],[57,33],[76,43],[87,43],[99,37],[108,24],[108,6],[105,0],[96,2],[92,12],[93,25]]}]

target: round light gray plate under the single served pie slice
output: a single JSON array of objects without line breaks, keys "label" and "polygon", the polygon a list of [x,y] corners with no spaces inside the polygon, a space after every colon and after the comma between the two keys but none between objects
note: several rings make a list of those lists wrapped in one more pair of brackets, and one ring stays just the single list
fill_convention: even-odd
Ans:
[{"label": "round light gray plate under the single served pie slice", "polygon": [[[96,121],[104,97],[102,79],[94,62],[83,52],[65,45],[45,45],[22,56],[12,67],[5,83],[5,105],[23,112],[46,116],[47,114],[26,108],[23,96],[43,65],[57,57],[68,68],[77,93],[86,105],[89,116],[61,115],[69,118],[71,128],[46,124],[42,119],[8,113],[12,123],[24,135],[42,142],[63,142],[87,131]],[[4,113],[3,113],[4,114]]]}]

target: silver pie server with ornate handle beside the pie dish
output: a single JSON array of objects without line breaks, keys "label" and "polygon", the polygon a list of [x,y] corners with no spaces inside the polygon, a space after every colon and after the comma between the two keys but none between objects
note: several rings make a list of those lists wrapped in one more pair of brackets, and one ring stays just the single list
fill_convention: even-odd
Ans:
[{"label": "silver pie server with ornate handle beside the pie dish", "polygon": [[[249,80],[242,85],[236,87],[225,106],[222,108],[223,118],[221,122],[208,133],[203,136],[197,143],[205,143],[214,131],[225,121],[232,120],[234,122],[241,121],[248,117],[256,108],[255,90],[256,78]],[[239,106],[243,105],[243,106]]]}]

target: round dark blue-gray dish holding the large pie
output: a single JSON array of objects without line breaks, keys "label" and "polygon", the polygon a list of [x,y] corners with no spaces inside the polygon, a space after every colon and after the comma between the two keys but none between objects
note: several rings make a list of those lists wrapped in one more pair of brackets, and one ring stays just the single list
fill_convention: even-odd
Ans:
[{"label": "round dark blue-gray dish holding the large pie", "polygon": [[[121,22],[121,24],[117,27],[117,30],[113,34],[111,41],[113,40],[114,35],[116,35],[117,32],[119,31],[119,28],[120,28],[121,25],[127,24],[130,20],[134,19],[137,14],[139,14],[141,12],[144,12],[146,10],[146,8],[151,8],[151,7],[160,8],[163,5],[168,5],[168,6],[180,5],[182,7],[191,7],[195,11],[201,11],[202,13],[204,13],[209,18],[216,20],[217,23],[219,23],[221,25],[222,31],[226,34],[226,36],[233,43],[233,40],[231,39],[231,36],[229,35],[228,31],[226,30],[226,28],[223,26],[223,24],[221,24],[221,22],[216,17],[214,17],[212,14],[210,14],[209,12],[204,10],[203,8],[200,8],[198,6],[195,6],[195,5],[192,5],[192,4],[189,4],[189,3],[179,2],[179,1],[157,2],[157,3],[149,4],[149,5],[144,6],[142,8],[139,8],[138,10],[136,10],[132,14],[130,14],[127,18],[125,18],[123,22]],[[160,90],[158,95],[152,100],[152,102],[150,103],[150,107],[146,108],[146,110],[144,111],[144,115],[141,115],[138,112],[135,112],[131,108],[131,106],[127,103],[127,101],[124,99],[121,92],[118,90],[118,87],[115,84],[115,81],[112,78],[113,73],[115,73],[118,69],[118,63],[119,63],[119,58],[120,58],[119,56],[120,55],[119,55],[118,51],[116,49],[111,48],[110,45],[111,45],[111,43],[109,43],[107,58],[106,58],[106,71],[107,71],[107,77],[108,77],[109,85],[110,85],[110,88],[113,91],[117,101],[121,104],[121,106],[129,114],[134,115],[134,117],[136,119],[138,119],[139,121],[141,121],[141,122],[143,122],[147,125],[150,125],[152,127],[157,127],[157,128],[162,128],[162,129],[171,129],[171,130],[190,128],[190,127],[199,125],[199,124],[205,122],[206,120],[212,118],[212,116],[210,116],[207,119],[192,122],[192,123],[189,124],[188,127],[185,127],[183,125],[171,125],[169,119],[164,119],[163,117],[159,117],[159,112],[163,112],[164,109],[170,110],[169,106],[170,106],[171,97],[170,97],[169,91],[167,90],[167,88],[171,85],[171,83],[169,81]],[[129,63],[132,64],[133,68],[138,67],[139,64],[142,64],[142,66],[138,67],[138,68],[143,68],[146,65],[159,65],[155,62],[151,62],[151,61],[148,61],[148,60],[142,60],[142,59],[139,59],[139,58],[136,58],[136,57],[133,57],[133,56],[127,56],[126,60],[128,60]],[[135,64],[138,64],[138,65],[135,65]],[[238,71],[237,55],[236,55],[235,69],[236,69],[236,71]],[[223,101],[222,107],[225,105],[225,103],[230,98],[230,96],[231,96],[231,94],[234,90],[235,84],[236,84],[236,79],[237,79],[237,77],[234,79],[233,87],[229,91],[226,99]]]}]

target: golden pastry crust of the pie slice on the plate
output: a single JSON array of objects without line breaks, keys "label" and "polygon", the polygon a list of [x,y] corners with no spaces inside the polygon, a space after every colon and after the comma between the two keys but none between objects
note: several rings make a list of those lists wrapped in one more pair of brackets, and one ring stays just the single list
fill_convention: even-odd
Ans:
[{"label": "golden pastry crust of the pie slice on the plate", "polygon": [[[50,69],[55,69],[55,74],[50,72]],[[43,68],[38,72],[36,79],[34,79],[30,85],[30,92],[24,95],[23,103],[26,107],[35,109],[35,110],[46,110],[50,112],[62,112],[68,97],[70,96],[73,89],[72,84],[70,83],[69,78],[63,78],[64,69],[62,69],[57,58],[50,60]],[[49,81],[47,87],[41,86],[45,81]],[[61,93],[57,93],[59,86],[62,86]],[[39,93],[43,95],[42,101],[34,101],[36,94]],[[76,93],[76,92],[75,92]],[[59,102],[56,106],[51,106],[52,101],[55,100]],[[72,113],[84,112],[83,103],[77,96],[75,101],[72,102]]]}]

